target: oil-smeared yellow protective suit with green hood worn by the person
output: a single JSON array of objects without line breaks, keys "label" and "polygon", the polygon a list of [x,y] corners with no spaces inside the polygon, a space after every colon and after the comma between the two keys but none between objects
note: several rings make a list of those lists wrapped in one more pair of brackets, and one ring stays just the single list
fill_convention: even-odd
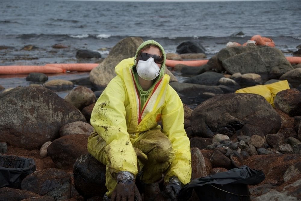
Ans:
[{"label": "oil-smeared yellow protective suit with green hood worn by the person", "polygon": [[[166,56],[160,44],[152,40],[146,41],[139,46],[137,53],[148,44],[156,44],[161,48],[164,62],[141,112],[133,71],[135,61],[134,58],[129,58],[115,67],[117,76],[107,85],[91,114],[91,125],[95,131],[89,136],[88,151],[107,165],[107,196],[111,195],[117,184],[112,175],[119,171],[137,175],[143,162],[137,160],[136,153],[147,160],[143,152],[151,151],[150,147],[157,148],[155,144],[160,144],[160,150],[156,151],[157,158],[152,161],[160,163],[162,159],[165,162],[159,166],[148,164],[153,170],[148,168],[143,171],[142,181],[155,182],[158,178],[150,177],[151,171],[160,175],[166,171],[166,182],[172,176],[178,177],[183,184],[190,182],[190,141],[184,129],[183,104],[169,85],[169,76],[163,75]],[[160,120],[163,129],[157,123]],[[148,157],[154,157],[154,152]]]}]

